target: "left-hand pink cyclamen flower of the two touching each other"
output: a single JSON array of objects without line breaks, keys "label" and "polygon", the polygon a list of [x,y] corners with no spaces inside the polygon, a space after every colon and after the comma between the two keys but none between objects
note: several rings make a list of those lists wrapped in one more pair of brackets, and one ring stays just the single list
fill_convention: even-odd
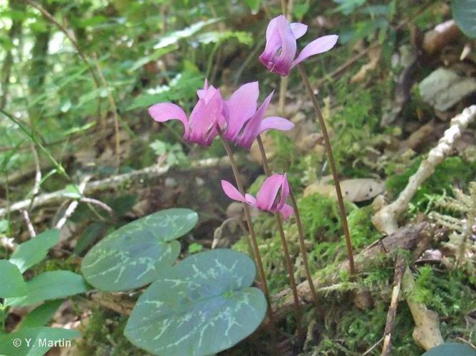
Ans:
[{"label": "left-hand pink cyclamen flower of the two touching each other", "polygon": [[224,103],[222,95],[207,80],[203,89],[197,90],[198,102],[187,119],[187,114],[180,106],[172,103],[159,103],[149,108],[149,114],[155,121],[180,120],[185,132],[183,138],[189,142],[209,146],[218,135],[217,127],[223,122]]}]

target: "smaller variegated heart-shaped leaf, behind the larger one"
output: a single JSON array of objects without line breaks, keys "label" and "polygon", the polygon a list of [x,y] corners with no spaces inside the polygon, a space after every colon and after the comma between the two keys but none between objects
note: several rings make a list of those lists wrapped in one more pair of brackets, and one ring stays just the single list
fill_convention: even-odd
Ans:
[{"label": "smaller variegated heart-shaped leaf, behind the larger one", "polygon": [[83,258],[88,283],[108,291],[145,286],[180,253],[180,236],[197,224],[190,209],[167,209],[133,221],[109,234]]}]

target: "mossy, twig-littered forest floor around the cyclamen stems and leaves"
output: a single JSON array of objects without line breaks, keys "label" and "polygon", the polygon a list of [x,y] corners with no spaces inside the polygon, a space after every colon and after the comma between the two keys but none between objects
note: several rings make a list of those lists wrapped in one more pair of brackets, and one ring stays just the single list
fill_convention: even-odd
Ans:
[{"label": "mossy, twig-littered forest floor around the cyclamen stems and leaves", "polygon": [[[319,307],[311,308],[298,231],[291,218],[284,230],[304,305],[304,331],[296,333],[279,231],[271,214],[254,211],[273,308],[279,315],[276,330],[261,328],[220,355],[379,355],[389,330],[391,355],[421,355],[440,340],[476,345],[476,109],[464,111],[476,104],[475,41],[450,20],[444,2],[435,4],[423,8],[414,4],[408,18],[390,21],[385,33],[378,32],[380,38],[338,46],[324,59],[306,63],[311,83],[318,88],[346,196],[355,276],[349,275],[346,265],[323,137],[297,73],[289,76],[287,90],[281,93],[281,78],[265,73],[254,63],[256,58],[247,59],[257,57],[263,43],[256,43],[257,51],[220,50],[222,67],[207,70],[222,93],[234,90],[237,81],[252,81],[259,70],[262,95],[267,93],[264,88],[276,88],[267,115],[289,117],[296,125],[291,132],[267,132],[263,141],[271,169],[286,172],[299,197],[319,297]],[[316,16],[313,21],[321,31],[330,31],[337,20],[336,16]],[[179,54],[168,54],[167,62],[177,61]],[[242,63],[250,62],[251,68],[244,70]],[[121,124],[115,132],[114,115],[108,113],[103,134],[92,135],[91,142],[90,131],[71,139],[78,150],[69,150],[62,162],[71,175],[90,174],[85,192],[110,206],[114,215],[111,218],[80,204],[61,230],[61,243],[34,271],[58,267],[78,271],[90,246],[108,232],[177,206],[200,216],[195,229],[180,240],[180,258],[212,246],[248,253],[240,226],[244,222],[241,205],[230,204],[219,186],[219,179],[232,181],[219,142],[213,142],[209,150],[192,146],[181,140],[179,126],[152,122],[145,107],[135,110],[140,120],[128,122],[128,114],[121,119],[127,122],[127,130]],[[462,112],[472,119],[463,124],[452,121]],[[450,137],[445,130],[452,125],[457,135]],[[120,155],[115,152],[118,135]],[[445,147],[442,137],[447,138]],[[431,161],[432,149],[443,150],[443,157]],[[247,192],[256,194],[265,177],[257,147],[249,152],[234,147],[234,153]],[[117,157],[119,170],[114,167]],[[1,199],[8,200],[10,209],[36,185],[38,169],[31,156],[25,162],[31,169],[8,174],[8,197],[5,182],[0,187]],[[419,169],[426,170],[420,174]],[[409,187],[413,174],[418,182]],[[64,185],[58,178],[46,182],[38,193],[37,205],[31,209],[37,229],[53,225],[68,206],[63,195],[44,195]],[[409,196],[399,197],[405,189]],[[379,217],[393,201],[400,201],[401,211],[390,211],[390,218]],[[11,226],[22,241],[29,238],[29,230],[18,212],[13,211],[9,219],[15,221]],[[392,301],[394,293],[397,299]],[[77,328],[83,335],[71,349],[52,350],[51,355],[145,355],[123,336],[127,305],[137,293],[116,296],[108,300],[86,295],[63,303],[53,325]],[[388,314],[390,305],[396,308],[393,318]],[[7,330],[13,330],[25,313],[24,308],[11,310]],[[420,323],[416,331],[415,323]]]}]

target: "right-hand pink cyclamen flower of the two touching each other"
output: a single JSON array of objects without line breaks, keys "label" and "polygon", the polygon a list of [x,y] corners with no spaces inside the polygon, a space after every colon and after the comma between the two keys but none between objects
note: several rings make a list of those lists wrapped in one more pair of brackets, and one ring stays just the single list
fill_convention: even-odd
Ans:
[{"label": "right-hand pink cyclamen flower of the two touching each other", "polygon": [[291,130],[294,124],[279,116],[264,117],[273,93],[257,109],[258,82],[239,87],[224,105],[226,127],[223,137],[244,148],[251,148],[257,136],[266,130]]}]

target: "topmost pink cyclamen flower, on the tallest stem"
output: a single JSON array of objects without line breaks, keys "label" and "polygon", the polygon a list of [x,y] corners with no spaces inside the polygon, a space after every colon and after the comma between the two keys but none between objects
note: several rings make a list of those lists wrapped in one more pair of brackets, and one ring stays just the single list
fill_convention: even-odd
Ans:
[{"label": "topmost pink cyclamen flower, on the tallest stem", "polygon": [[312,41],[296,57],[296,39],[307,31],[304,23],[289,23],[284,15],[269,21],[266,46],[259,61],[273,73],[288,75],[289,70],[315,54],[324,53],[336,45],[337,35],[322,36]]}]

